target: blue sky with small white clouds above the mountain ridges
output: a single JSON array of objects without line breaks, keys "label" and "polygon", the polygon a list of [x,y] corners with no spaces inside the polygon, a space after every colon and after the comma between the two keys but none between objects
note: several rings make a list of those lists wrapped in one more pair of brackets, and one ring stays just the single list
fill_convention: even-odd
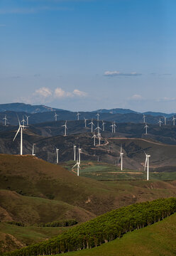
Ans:
[{"label": "blue sky with small white clouds above the mountain ridges", "polygon": [[0,102],[176,112],[174,0],[0,0]]}]

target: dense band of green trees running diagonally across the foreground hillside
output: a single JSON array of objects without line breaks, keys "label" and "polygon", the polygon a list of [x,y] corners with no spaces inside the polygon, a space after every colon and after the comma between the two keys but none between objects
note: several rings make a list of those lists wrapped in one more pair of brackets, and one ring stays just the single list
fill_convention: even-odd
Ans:
[{"label": "dense band of green trees running diagonally across the foreground hillside", "polygon": [[158,199],[136,203],[93,220],[77,225],[55,238],[24,247],[21,250],[5,253],[8,256],[55,255],[92,248],[121,238],[124,233],[143,228],[176,212],[176,198]]}]

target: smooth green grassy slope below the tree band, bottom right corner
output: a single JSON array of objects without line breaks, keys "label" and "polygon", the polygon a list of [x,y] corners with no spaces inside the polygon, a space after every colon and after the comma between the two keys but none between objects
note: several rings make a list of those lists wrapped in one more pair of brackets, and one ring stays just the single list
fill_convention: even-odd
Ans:
[{"label": "smooth green grassy slope below the tree band, bottom right corner", "polygon": [[176,214],[123,238],[97,248],[65,253],[65,256],[174,256],[176,254]]}]

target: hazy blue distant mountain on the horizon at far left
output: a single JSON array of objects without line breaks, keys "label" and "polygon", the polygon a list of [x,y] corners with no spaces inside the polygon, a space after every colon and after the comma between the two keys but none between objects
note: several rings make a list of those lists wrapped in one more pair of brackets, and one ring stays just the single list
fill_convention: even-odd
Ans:
[{"label": "hazy blue distant mountain on the horizon at far left", "polygon": [[51,112],[59,109],[53,107],[47,107],[45,105],[29,105],[25,103],[9,103],[0,104],[0,112],[14,111],[14,112],[27,112],[27,113],[41,113],[41,112]]}]

